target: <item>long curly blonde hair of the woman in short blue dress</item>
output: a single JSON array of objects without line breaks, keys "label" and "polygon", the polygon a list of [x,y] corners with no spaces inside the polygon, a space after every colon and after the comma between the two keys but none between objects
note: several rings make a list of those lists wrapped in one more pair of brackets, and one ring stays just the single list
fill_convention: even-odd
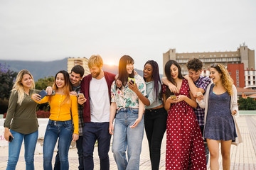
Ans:
[{"label": "long curly blonde hair of the woman in short blue dress", "polygon": [[228,91],[228,94],[231,96],[233,94],[232,86],[234,84],[233,79],[230,77],[228,70],[225,69],[223,64],[215,63],[211,67],[215,68],[220,74],[221,84]]}]

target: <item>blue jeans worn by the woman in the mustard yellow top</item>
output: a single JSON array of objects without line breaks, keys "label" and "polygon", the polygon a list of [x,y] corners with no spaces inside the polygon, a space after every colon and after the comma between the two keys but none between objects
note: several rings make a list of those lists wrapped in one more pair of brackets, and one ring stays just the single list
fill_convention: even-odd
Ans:
[{"label": "blue jeans worn by the woman in the mustard yellow top", "polygon": [[60,155],[60,169],[69,169],[68,150],[73,135],[73,125],[71,120],[55,121],[49,120],[46,134],[43,140],[43,169],[52,170],[53,151],[58,142],[58,151]]}]

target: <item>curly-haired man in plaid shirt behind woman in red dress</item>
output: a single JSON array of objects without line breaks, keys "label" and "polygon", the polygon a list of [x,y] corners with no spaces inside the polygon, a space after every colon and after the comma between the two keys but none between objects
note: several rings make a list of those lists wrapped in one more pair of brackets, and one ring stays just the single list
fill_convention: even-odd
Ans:
[{"label": "curly-haired man in plaid shirt behind woman in red dress", "polygon": [[[188,61],[186,64],[188,68],[188,75],[184,76],[186,80],[188,80],[189,89],[191,90],[191,93],[194,97],[196,97],[196,93],[201,91],[202,94],[205,93],[208,84],[210,84],[210,78],[209,77],[202,77],[201,72],[203,71],[203,63],[201,60],[197,58],[193,58]],[[169,86],[169,89],[173,93],[178,93],[178,89],[174,84],[171,84],[166,77],[162,78],[162,81],[164,84]],[[196,114],[196,118],[198,120],[198,125],[201,129],[202,135],[203,135],[203,128],[204,128],[204,109],[197,106],[197,108],[193,108]],[[209,149],[208,145],[205,142],[205,150],[206,150],[206,164],[208,163],[208,155],[209,155]]]}]

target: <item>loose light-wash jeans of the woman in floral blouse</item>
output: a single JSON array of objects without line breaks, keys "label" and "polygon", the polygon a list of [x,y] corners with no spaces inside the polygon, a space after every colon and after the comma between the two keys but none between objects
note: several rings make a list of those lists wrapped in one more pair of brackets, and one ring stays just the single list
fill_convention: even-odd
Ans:
[{"label": "loose light-wash jeans of the woman in floral blouse", "polygon": [[134,108],[120,108],[114,120],[112,152],[119,170],[139,169],[139,157],[142,152],[144,135],[144,118],[136,128],[129,128],[137,120],[138,111],[138,109]]}]

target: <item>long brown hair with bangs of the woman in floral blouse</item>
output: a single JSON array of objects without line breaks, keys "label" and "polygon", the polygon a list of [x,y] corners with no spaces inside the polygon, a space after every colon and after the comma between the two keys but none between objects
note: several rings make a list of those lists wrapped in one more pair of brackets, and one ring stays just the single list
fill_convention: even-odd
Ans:
[{"label": "long brown hair with bangs of the woman in floral blouse", "polygon": [[129,55],[124,55],[119,60],[118,78],[117,78],[120,81],[122,81],[123,86],[127,84],[128,77],[134,78],[134,70],[132,70],[132,74],[128,74],[127,64],[134,64],[134,60]]}]

